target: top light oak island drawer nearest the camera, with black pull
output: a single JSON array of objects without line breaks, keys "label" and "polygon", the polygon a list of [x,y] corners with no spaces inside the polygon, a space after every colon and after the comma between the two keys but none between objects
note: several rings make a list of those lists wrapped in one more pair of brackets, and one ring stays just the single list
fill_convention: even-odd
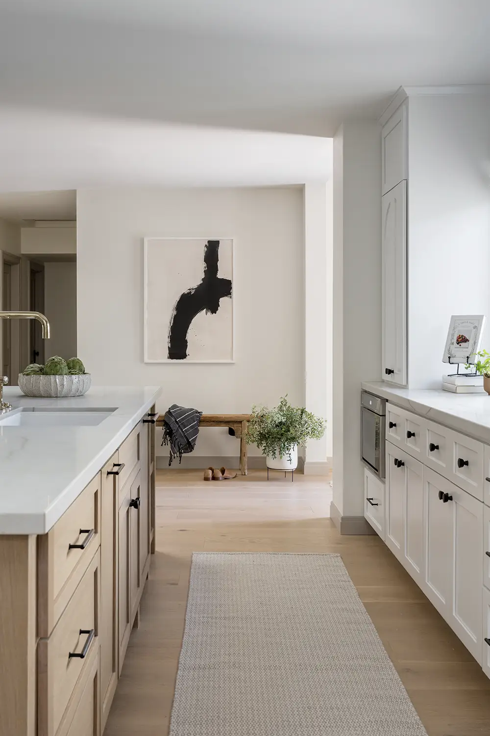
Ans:
[{"label": "top light oak island drawer nearest the camera, with black pull", "polygon": [[48,637],[100,545],[101,473],[38,537],[37,633]]}]

